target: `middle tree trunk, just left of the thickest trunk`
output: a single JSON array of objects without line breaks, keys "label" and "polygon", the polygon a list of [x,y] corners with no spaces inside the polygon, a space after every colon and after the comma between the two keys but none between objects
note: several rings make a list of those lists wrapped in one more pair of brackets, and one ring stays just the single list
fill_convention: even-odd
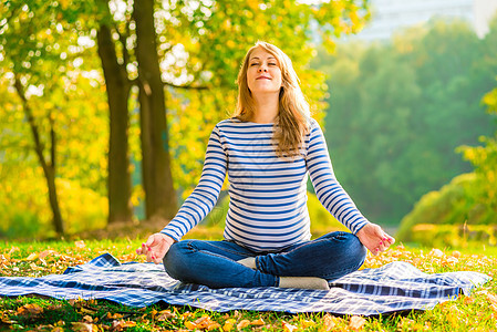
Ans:
[{"label": "middle tree trunk, just left of the thickest trunk", "polygon": [[[108,137],[108,224],[131,222],[131,174],[127,129],[130,113],[127,102],[131,83],[125,69],[120,64],[115,44],[107,25],[101,25],[97,33],[99,55],[104,71],[110,110]],[[123,45],[124,46],[124,45]]]}]

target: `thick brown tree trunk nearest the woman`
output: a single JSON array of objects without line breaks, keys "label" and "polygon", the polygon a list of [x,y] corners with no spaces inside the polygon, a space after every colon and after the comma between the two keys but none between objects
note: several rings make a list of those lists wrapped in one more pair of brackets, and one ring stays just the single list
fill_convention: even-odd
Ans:
[{"label": "thick brown tree trunk nearest the woman", "polygon": [[154,0],[135,0],[133,18],[136,24],[146,217],[167,220],[176,214],[177,200],[170,172],[166,103],[154,25]]}]

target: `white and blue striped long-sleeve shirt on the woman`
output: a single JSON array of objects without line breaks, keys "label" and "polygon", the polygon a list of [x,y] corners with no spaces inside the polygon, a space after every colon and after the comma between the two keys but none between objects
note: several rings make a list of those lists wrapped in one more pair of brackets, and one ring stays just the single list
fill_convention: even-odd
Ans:
[{"label": "white and blue striped long-sleeve shirt on the woman", "polygon": [[226,174],[229,209],[224,237],[255,251],[276,251],[311,238],[307,181],[321,204],[353,234],[369,221],[333,174],[319,124],[293,159],[276,155],[273,124],[229,118],[209,138],[200,180],[173,220],[162,230],[179,240],[214,208]]}]

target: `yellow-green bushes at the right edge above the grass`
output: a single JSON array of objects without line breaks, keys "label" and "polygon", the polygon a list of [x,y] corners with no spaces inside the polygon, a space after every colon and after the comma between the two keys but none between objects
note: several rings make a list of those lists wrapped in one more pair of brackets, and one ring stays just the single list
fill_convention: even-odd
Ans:
[{"label": "yellow-green bushes at the right edge above the grass", "polygon": [[[483,103],[488,113],[497,113],[497,89],[485,94]],[[460,229],[466,224],[477,228],[490,245],[496,245],[497,222],[497,132],[494,137],[480,137],[484,146],[460,146],[463,157],[475,170],[456,176],[439,191],[426,194],[402,220],[401,240],[436,239],[446,243],[460,242]],[[422,226],[429,224],[428,226]],[[434,224],[449,224],[445,236]],[[474,226],[477,225],[477,226]],[[484,226],[491,225],[491,226]],[[431,231],[426,231],[431,230]],[[452,242],[451,242],[452,241]]]}]

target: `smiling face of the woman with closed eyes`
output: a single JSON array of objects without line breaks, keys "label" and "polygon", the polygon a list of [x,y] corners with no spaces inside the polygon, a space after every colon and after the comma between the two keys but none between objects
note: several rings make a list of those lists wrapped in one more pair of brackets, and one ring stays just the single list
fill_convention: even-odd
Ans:
[{"label": "smiling face of the woman with closed eyes", "polygon": [[247,84],[252,94],[279,93],[281,70],[278,60],[262,48],[250,54]]}]

